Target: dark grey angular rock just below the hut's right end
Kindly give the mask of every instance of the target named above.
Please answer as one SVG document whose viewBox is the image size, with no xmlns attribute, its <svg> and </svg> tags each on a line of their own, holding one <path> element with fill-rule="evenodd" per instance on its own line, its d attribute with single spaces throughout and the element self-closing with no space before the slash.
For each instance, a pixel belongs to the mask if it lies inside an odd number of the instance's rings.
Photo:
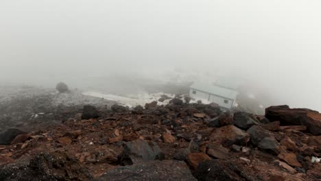
<svg viewBox="0 0 321 181">
<path fill-rule="evenodd" d="M 234 125 L 242 130 L 248 130 L 252 125 L 258 125 L 259 123 L 254 120 L 253 114 L 248 112 L 235 112 L 234 114 Z"/>
</svg>

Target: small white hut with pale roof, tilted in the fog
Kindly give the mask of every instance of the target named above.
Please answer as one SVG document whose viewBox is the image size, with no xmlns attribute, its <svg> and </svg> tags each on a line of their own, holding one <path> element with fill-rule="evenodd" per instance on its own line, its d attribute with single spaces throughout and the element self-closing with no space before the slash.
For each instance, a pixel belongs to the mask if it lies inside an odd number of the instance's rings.
<svg viewBox="0 0 321 181">
<path fill-rule="evenodd" d="M 194 83 L 189 90 L 189 96 L 195 100 L 214 102 L 222 108 L 232 109 L 237 98 L 237 91 L 216 84 Z"/>
</svg>

